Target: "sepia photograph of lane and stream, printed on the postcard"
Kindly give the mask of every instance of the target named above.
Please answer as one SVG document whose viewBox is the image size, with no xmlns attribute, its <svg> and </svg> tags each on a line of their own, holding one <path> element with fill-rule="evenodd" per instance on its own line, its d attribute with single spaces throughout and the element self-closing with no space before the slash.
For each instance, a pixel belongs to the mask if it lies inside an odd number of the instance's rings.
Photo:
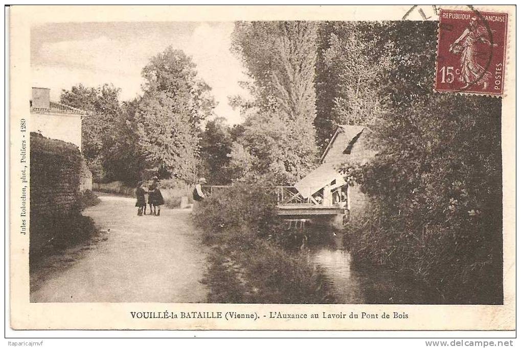
<svg viewBox="0 0 521 348">
<path fill-rule="evenodd" d="M 432 91 L 437 27 L 31 28 L 31 301 L 502 303 L 501 101 Z"/>
</svg>

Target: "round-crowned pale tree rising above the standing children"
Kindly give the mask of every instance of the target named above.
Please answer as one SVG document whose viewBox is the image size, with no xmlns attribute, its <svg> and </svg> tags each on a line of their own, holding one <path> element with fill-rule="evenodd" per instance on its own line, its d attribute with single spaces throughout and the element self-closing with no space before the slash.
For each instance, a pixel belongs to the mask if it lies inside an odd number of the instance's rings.
<svg viewBox="0 0 521 348">
<path fill-rule="evenodd" d="M 136 113 L 138 144 L 146 167 L 192 182 L 199 157 L 201 122 L 212 114 L 210 87 L 195 64 L 168 47 L 143 68 L 144 95 Z"/>
</svg>

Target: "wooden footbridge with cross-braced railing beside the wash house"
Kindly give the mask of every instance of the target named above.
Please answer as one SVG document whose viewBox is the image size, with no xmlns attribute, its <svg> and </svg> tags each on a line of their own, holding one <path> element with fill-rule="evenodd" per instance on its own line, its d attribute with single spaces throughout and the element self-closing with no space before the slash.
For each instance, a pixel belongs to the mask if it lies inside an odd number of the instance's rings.
<svg viewBox="0 0 521 348">
<path fill-rule="evenodd" d="M 220 190 L 230 186 L 203 186 L 203 191 L 212 196 Z M 275 186 L 274 198 L 277 198 L 278 215 L 284 217 L 312 217 L 315 215 L 341 215 L 346 214 L 348 208 L 348 195 L 343 194 L 342 188 L 338 187 L 331 191 L 330 199 L 321 196 L 304 198 L 294 186 Z"/>
</svg>

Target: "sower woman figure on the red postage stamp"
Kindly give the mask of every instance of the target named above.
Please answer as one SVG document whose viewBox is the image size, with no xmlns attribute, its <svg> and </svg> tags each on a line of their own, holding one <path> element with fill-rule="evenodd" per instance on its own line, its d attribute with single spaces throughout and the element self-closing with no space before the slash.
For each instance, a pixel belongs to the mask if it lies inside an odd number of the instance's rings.
<svg viewBox="0 0 521 348">
<path fill-rule="evenodd" d="M 491 30 L 490 32 L 493 32 Z M 483 85 L 486 89 L 492 73 L 487 71 L 477 62 L 478 42 L 486 43 L 492 47 L 497 46 L 488 40 L 485 35 L 488 33 L 483 25 L 478 25 L 477 18 L 472 17 L 463 33 L 449 47 L 449 51 L 461 55 L 461 81 L 465 83 L 463 88 L 471 84 Z"/>
</svg>

